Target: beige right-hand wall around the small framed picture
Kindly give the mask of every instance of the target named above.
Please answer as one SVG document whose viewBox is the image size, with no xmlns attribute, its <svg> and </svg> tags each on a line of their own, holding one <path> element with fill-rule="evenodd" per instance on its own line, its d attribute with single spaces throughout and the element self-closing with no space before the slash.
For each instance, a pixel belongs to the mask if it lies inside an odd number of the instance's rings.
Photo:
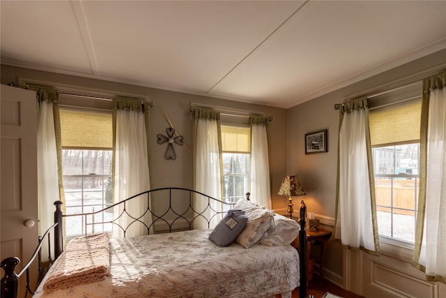
<svg viewBox="0 0 446 298">
<path fill-rule="evenodd" d="M 379 89 L 413 82 L 429 75 L 429 71 L 436 71 L 442 67 L 446 68 L 446 50 L 380 73 L 288 110 L 287 172 L 299 176 L 302 187 L 307 192 L 307 195 L 299 198 L 305 200 L 308 212 L 331 219 L 335 216 L 339 112 L 334 110 L 334 104 L 342 103 L 344 98 L 351 96 L 374 94 Z M 305 155 L 305 133 L 322 129 L 328 130 L 328 152 Z M 332 227 L 325 228 L 332 229 Z M 339 244 L 329 244 L 327 257 L 326 268 L 341 276 L 342 250 Z"/>
</svg>

